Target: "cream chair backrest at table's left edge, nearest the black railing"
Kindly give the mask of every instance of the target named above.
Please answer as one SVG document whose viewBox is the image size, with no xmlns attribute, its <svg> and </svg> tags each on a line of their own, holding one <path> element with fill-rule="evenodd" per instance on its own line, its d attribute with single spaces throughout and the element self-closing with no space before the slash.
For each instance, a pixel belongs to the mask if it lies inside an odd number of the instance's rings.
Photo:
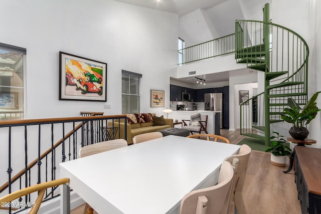
<svg viewBox="0 0 321 214">
<path fill-rule="evenodd" d="M 108 140 L 99 143 L 90 144 L 79 149 L 79 156 L 86 157 L 92 154 L 97 154 L 104 151 L 127 146 L 127 141 L 124 139 Z"/>
</svg>

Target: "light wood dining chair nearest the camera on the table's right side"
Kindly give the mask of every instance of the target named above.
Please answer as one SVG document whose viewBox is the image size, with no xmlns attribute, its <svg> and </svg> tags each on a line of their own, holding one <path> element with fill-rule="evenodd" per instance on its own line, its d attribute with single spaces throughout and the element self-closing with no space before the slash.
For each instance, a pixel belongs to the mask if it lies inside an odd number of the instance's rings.
<svg viewBox="0 0 321 214">
<path fill-rule="evenodd" d="M 225 198 L 229 193 L 234 171 L 230 162 L 222 163 L 218 184 L 193 190 L 181 201 L 181 214 L 218 214 L 225 209 Z M 227 204 L 228 205 L 228 204 Z"/>
</svg>

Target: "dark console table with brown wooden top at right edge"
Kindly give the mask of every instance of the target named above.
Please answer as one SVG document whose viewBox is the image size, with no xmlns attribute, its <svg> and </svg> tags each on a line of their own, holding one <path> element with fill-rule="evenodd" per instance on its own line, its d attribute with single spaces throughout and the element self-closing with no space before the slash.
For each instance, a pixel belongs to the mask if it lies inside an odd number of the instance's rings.
<svg viewBox="0 0 321 214">
<path fill-rule="evenodd" d="M 321 213 L 321 149 L 295 146 L 295 182 L 302 213 Z"/>
</svg>

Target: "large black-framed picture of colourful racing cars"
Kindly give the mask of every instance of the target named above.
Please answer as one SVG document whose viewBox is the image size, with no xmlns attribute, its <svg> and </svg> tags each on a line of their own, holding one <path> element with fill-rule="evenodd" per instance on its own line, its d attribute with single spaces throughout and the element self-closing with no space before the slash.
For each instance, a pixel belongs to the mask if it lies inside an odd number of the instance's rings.
<svg viewBox="0 0 321 214">
<path fill-rule="evenodd" d="M 107 63 L 59 52 L 59 100 L 107 100 Z"/>
</svg>

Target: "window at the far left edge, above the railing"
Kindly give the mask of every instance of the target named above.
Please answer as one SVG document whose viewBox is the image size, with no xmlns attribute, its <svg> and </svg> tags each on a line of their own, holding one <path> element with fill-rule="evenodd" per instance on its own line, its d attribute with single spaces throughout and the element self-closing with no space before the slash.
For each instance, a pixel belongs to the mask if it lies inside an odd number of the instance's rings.
<svg viewBox="0 0 321 214">
<path fill-rule="evenodd" d="M 0 43 L 0 120 L 24 117 L 26 49 Z"/>
</svg>

